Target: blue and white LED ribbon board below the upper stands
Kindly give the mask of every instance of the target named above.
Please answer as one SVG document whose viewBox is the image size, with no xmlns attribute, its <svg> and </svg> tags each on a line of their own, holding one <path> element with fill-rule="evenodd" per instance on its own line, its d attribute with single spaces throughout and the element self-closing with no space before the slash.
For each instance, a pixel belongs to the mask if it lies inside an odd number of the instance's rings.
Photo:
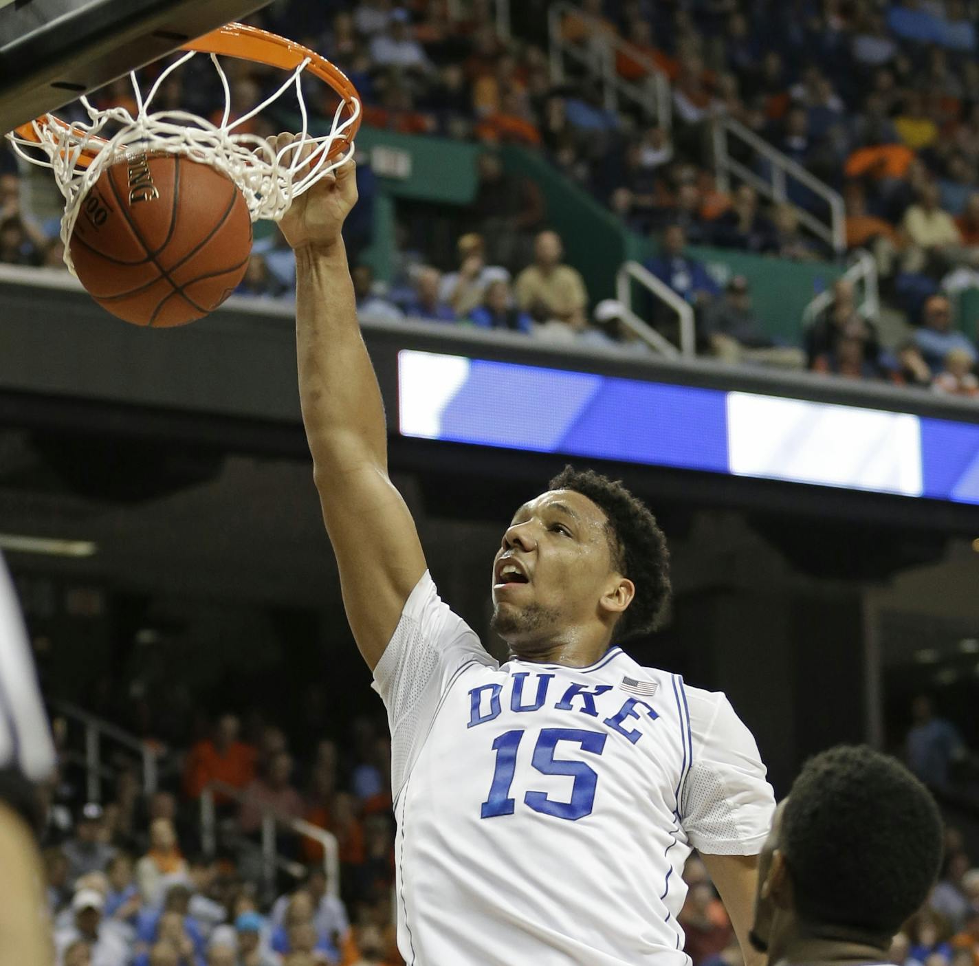
<svg viewBox="0 0 979 966">
<path fill-rule="evenodd" d="M 979 424 L 398 352 L 402 436 L 979 503 Z"/>
</svg>

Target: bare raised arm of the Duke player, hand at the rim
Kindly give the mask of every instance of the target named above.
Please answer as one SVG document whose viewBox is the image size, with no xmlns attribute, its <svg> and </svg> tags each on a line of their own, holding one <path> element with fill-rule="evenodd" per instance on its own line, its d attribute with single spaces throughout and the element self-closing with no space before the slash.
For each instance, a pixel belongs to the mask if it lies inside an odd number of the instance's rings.
<svg viewBox="0 0 979 966">
<path fill-rule="evenodd" d="M 291 135 L 280 135 L 282 147 Z M 425 573 L 414 521 L 388 479 L 377 377 L 357 323 L 340 232 L 357 199 L 353 162 L 293 202 L 280 223 L 296 252 L 303 424 L 350 629 L 373 669 Z"/>
</svg>

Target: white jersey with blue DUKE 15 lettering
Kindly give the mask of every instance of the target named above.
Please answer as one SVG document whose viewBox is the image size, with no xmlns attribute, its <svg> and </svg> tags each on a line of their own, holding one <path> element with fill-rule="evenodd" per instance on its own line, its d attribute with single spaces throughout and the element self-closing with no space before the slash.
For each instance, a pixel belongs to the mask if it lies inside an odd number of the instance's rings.
<svg viewBox="0 0 979 966">
<path fill-rule="evenodd" d="M 409 966 L 685 966 L 692 848 L 756 854 L 774 800 L 723 694 L 640 667 L 498 665 L 426 573 L 375 669 Z"/>
</svg>

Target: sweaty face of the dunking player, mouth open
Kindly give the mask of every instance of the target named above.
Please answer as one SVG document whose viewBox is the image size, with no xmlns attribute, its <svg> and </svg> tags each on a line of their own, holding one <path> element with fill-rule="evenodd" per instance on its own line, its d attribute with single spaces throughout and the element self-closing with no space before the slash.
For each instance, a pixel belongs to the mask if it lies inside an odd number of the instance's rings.
<svg viewBox="0 0 979 966">
<path fill-rule="evenodd" d="M 493 559 L 493 629 L 515 653 L 543 650 L 599 620 L 612 570 L 605 514 L 581 493 L 558 489 L 525 503 Z"/>
</svg>

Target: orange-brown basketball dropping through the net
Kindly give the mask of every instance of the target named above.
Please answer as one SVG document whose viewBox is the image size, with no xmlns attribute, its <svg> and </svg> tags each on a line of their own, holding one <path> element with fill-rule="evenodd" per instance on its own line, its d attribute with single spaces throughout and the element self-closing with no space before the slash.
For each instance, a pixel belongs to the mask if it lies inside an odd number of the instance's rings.
<svg viewBox="0 0 979 966">
<path fill-rule="evenodd" d="M 81 203 L 70 254 L 78 280 L 133 325 L 203 318 L 248 267 L 252 219 L 232 181 L 176 154 L 129 155 Z"/>
</svg>

